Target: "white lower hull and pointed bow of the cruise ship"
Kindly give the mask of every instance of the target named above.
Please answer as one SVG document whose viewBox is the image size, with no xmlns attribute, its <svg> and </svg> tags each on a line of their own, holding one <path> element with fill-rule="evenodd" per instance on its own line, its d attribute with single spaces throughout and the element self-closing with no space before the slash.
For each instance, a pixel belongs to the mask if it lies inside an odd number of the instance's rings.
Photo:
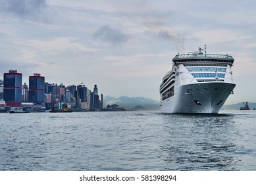
<svg viewBox="0 0 256 184">
<path fill-rule="evenodd" d="M 234 83 L 226 82 L 181 85 L 174 96 L 161 101 L 161 112 L 218 113 L 235 86 Z"/>
</svg>

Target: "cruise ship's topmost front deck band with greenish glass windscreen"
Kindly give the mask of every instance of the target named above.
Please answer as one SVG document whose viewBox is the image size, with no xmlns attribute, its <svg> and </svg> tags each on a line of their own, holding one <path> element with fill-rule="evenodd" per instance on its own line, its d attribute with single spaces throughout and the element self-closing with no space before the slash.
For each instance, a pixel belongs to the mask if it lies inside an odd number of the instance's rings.
<svg viewBox="0 0 256 184">
<path fill-rule="evenodd" d="M 188 53 L 187 55 L 176 55 L 172 61 L 174 64 L 184 62 L 222 62 L 233 64 L 234 58 L 230 55 L 203 54 L 203 53 Z"/>
</svg>

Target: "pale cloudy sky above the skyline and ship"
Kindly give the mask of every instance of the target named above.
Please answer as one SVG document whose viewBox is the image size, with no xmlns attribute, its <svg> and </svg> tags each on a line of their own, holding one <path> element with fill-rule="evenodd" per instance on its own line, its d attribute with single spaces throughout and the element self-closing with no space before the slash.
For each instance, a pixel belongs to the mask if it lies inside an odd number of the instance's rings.
<svg viewBox="0 0 256 184">
<path fill-rule="evenodd" d="M 226 104 L 255 102 L 255 9 L 253 0 L 1 0 L 0 79 L 16 69 L 27 83 L 40 73 L 49 83 L 159 101 L 172 58 L 206 44 L 207 53 L 235 58 Z"/>
</svg>

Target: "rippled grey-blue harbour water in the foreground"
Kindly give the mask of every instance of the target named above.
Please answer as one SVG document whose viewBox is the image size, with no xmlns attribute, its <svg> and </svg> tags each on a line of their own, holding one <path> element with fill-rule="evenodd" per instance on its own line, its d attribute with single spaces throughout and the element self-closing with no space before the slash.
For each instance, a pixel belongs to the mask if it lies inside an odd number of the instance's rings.
<svg viewBox="0 0 256 184">
<path fill-rule="evenodd" d="M 0 170 L 256 170 L 256 110 L 2 113 Z"/>
</svg>

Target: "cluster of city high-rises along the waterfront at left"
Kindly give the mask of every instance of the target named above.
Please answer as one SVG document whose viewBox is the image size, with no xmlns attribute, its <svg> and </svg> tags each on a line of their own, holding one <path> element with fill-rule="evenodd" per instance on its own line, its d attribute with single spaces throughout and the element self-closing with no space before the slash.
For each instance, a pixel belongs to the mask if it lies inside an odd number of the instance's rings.
<svg viewBox="0 0 256 184">
<path fill-rule="evenodd" d="M 66 106 L 78 111 L 103 109 L 103 95 L 99 97 L 97 85 L 91 92 L 84 83 L 66 87 L 45 82 L 45 77 L 37 73 L 29 77 L 29 85 L 22 85 L 22 74 L 17 70 L 10 70 L 0 80 L 0 101 L 3 106 L 23 106 L 37 112 Z"/>
</svg>

